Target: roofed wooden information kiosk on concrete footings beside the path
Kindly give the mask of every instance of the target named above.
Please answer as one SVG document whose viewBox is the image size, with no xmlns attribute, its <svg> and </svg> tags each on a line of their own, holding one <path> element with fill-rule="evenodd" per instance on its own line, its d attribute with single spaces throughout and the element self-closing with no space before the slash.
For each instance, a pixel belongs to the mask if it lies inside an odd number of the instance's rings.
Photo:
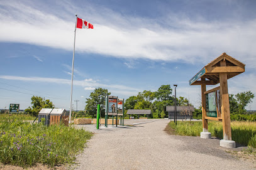
<svg viewBox="0 0 256 170">
<path fill-rule="evenodd" d="M 211 133 L 208 132 L 208 120 L 222 121 L 223 140 L 220 141 L 220 146 L 235 147 L 235 141 L 231 139 L 227 80 L 243 72 L 245 72 L 243 63 L 226 53 L 222 53 L 189 80 L 189 85 L 201 85 L 203 119 L 201 138 L 211 138 Z M 218 83 L 220 83 L 219 87 L 206 91 L 206 85 L 216 85 Z"/>
</svg>

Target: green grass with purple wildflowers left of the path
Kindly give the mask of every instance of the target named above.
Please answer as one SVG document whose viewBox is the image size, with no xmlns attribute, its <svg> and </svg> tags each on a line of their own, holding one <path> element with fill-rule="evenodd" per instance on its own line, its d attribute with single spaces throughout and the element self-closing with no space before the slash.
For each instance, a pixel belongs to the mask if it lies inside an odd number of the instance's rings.
<svg viewBox="0 0 256 170">
<path fill-rule="evenodd" d="M 91 136 L 91 132 L 62 124 L 31 125 L 20 117 L 6 117 L 0 124 L 0 161 L 22 167 L 70 164 Z"/>
</svg>

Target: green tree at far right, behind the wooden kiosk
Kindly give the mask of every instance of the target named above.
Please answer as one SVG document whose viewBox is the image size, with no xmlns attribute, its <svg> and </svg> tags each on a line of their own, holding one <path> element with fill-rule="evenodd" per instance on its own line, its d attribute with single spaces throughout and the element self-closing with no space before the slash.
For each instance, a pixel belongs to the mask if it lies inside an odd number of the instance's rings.
<svg viewBox="0 0 256 170">
<path fill-rule="evenodd" d="M 245 114 L 248 104 L 252 103 L 254 94 L 249 90 L 247 92 L 237 93 L 236 95 L 230 94 L 230 112 L 232 114 Z"/>
</svg>

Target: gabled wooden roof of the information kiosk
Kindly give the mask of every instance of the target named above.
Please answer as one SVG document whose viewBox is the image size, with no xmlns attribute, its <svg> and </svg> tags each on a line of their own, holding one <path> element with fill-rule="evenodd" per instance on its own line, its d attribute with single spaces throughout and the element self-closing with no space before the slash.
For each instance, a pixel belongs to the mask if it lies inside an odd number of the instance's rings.
<svg viewBox="0 0 256 170">
<path fill-rule="evenodd" d="M 216 85 L 220 83 L 220 73 L 227 73 L 228 78 L 231 78 L 243 72 L 245 72 L 245 64 L 222 53 L 191 78 L 189 85 Z M 198 81 L 199 78 L 201 81 Z"/>
</svg>

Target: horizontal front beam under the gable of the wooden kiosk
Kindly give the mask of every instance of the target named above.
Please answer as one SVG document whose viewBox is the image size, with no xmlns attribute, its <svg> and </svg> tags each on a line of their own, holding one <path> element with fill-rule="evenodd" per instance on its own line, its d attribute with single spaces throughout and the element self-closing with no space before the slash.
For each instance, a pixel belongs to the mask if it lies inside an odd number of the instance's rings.
<svg viewBox="0 0 256 170">
<path fill-rule="evenodd" d="M 240 66 L 213 66 L 207 68 L 207 73 L 243 73 L 245 68 Z"/>
</svg>

